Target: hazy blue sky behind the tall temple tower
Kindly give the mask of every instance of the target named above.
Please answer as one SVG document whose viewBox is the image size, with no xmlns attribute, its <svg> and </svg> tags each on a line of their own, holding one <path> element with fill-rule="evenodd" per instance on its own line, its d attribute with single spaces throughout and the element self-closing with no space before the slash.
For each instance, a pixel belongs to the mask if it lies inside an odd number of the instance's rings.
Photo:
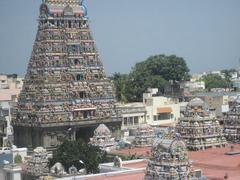
<svg viewBox="0 0 240 180">
<path fill-rule="evenodd" d="M 27 70 L 41 0 L 0 0 L 0 73 Z M 86 0 L 107 75 L 151 55 L 183 57 L 191 73 L 240 66 L 240 0 Z"/>
</svg>

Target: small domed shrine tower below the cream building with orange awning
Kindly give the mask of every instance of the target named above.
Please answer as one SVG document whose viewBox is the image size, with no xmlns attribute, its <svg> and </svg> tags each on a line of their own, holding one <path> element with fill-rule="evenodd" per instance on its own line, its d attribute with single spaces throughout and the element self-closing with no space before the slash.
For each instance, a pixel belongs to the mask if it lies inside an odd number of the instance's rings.
<svg viewBox="0 0 240 180">
<path fill-rule="evenodd" d="M 154 137 L 154 130 L 150 125 L 140 125 L 136 131 L 134 145 L 135 147 L 152 146 Z"/>
</svg>

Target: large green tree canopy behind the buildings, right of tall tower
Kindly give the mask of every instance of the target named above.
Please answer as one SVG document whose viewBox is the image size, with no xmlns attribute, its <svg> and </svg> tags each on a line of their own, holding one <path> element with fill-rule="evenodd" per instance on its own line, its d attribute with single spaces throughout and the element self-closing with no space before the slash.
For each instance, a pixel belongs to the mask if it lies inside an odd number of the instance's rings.
<svg viewBox="0 0 240 180">
<path fill-rule="evenodd" d="M 137 63 L 128 75 L 114 74 L 116 97 L 119 101 L 141 101 L 148 88 L 164 87 L 170 82 L 177 83 L 189 79 L 189 69 L 185 60 L 175 55 L 156 55 Z"/>
</svg>

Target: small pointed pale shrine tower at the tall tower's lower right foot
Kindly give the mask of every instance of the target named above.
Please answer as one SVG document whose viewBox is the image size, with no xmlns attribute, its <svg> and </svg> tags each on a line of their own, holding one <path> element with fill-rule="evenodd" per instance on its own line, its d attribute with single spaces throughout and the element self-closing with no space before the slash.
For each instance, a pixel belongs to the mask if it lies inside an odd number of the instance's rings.
<svg viewBox="0 0 240 180">
<path fill-rule="evenodd" d="M 90 144 L 99 146 L 103 151 L 111 151 L 116 149 L 117 143 L 112 137 L 112 132 L 105 124 L 100 124 L 94 131 L 94 135 L 90 138 Z"/>
</svg>

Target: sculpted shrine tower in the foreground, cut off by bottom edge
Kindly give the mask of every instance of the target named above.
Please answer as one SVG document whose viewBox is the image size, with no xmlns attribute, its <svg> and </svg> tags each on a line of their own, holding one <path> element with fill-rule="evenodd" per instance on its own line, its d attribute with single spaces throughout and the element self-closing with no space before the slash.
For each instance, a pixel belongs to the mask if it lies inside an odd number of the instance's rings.
<svg viewBox="0 0 240 180">
<path fill-rule="evenodd" d="M 145 180 L 195 178 L 188 159 L 187 147 L 179 135 L 171 139 L 155 140 L 151 152 L 152 157 L 145 172 Z"/>
</svg>

